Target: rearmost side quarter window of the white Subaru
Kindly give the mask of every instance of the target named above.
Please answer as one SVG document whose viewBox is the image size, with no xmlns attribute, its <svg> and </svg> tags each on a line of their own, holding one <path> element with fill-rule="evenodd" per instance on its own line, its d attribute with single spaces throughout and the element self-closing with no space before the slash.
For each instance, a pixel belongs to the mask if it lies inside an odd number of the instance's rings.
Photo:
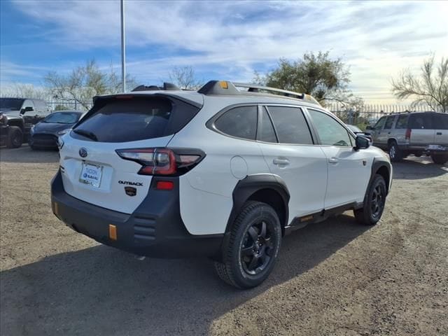
<svg viewBox="0 0 448 336">
<path fill-rule="evenodd" d="M 219 117 L 214 125 L 217 130 L 232 137 L 255 140 L 257 114 L 257 106 L 235 107 Z"/>
</svg>

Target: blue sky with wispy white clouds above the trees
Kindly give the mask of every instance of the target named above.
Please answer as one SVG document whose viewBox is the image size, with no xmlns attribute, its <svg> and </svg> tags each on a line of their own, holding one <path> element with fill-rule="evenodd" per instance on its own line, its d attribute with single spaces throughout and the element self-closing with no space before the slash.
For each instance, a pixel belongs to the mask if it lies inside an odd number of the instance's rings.
<svg viewBox="0 0 448 336">
<path fill-rule="evenodd" d="M 448 1 L 447 1 L 448 2 Z M 43 85 L 87 59 L 120 72 L 119 1 L 0 1 L 0 85 Z M 367 102 L 395 102 L 390 80 L 448 57 L 443 1 L 125 1 L 127 71 L 161 83 L 174 66 L 202 80 L 248 81 L 279 57 L 330 50 Z M 1 88 L 0 87 L 0 88 Z"/>
</svg>

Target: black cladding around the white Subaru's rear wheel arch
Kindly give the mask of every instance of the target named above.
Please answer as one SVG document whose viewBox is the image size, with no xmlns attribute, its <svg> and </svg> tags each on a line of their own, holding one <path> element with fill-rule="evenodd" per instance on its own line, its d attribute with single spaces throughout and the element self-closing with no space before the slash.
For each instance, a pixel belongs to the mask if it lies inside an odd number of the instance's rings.
<svg viewBox="0 0 448 336">
<path fill-rule="evenodd" d="M 225 232 L 230 232 L 232 224 L 241 212 L 244 203 L 247 201 L 258 201 L 269 204 L 279 216 L 282 234 L 288 225 L 288 203 L 289 191 L 286 183 L 271 174 L 256 174 L 246 176 L 238 181 L 232 193 L 233 207 Z"/>
</svg>

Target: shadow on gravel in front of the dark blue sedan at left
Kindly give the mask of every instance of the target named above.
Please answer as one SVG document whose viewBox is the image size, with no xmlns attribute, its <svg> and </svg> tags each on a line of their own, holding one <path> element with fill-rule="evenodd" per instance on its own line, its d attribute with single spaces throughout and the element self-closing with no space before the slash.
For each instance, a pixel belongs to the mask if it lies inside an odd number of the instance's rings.
<svg viewBox="0 0 448 336">
<path fill-rule="evenodd" d="M 32 150 L 28 144 L 22 144 L 19 148 L 0 148 L 0 162 L 52 163 L 59 162 L 59 154 L 57 148 Z"/>
</svg>

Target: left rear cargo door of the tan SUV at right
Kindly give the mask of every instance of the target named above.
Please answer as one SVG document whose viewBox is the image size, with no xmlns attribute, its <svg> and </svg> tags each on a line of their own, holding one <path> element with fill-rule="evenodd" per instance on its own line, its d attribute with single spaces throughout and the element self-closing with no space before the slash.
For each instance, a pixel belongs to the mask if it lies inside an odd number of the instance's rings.
<svg viewBox="0 0 448 336">
<path fill-rule="evenodd" d="M 412 113 L 409 116 L 409 126 L 411 129 L 411 146 L 426 147 L 435 141 L 435 131 L 433 127 L 433 113 Z"/>
</svg>

